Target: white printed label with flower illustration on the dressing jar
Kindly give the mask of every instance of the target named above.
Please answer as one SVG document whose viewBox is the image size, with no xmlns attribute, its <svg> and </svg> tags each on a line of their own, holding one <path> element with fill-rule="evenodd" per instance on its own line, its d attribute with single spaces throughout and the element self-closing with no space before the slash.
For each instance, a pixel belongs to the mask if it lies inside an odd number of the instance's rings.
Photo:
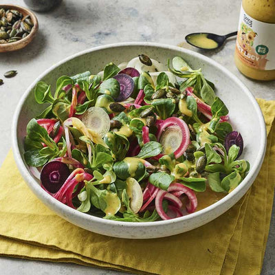
<svg viewBox="0 0 275 275">
<path fill-rule="evenodd" d="M 236 53 L 254 69 L 275 69 L 275 24 L 253 19 L 241 6 Z"/>
</svg>

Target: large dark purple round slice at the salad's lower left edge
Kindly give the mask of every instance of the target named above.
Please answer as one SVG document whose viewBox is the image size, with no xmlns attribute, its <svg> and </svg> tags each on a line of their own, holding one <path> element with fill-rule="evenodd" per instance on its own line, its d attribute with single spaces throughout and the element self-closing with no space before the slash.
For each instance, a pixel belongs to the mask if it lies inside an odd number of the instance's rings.
<svg viewBox="0 0 275 275">
<path fill-rule="evenodd" d="M 69 174 L 67 164 L 56 160 L 48 162 L 41 170 L 41 184 L 47 191 L 56 193 L 63 186 Z"/>
</svg>

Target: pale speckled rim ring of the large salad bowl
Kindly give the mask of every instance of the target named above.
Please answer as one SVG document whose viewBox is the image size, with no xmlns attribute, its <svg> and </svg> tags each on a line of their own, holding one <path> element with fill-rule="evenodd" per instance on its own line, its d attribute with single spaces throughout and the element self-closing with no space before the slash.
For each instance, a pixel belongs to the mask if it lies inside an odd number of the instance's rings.
<svg viewBox="0 0 275 275">
<path fill-rule="evenodd" d="M 18 140 L 17 140 L 17 122 L 18 122 L 18 119 L 19 119 L 19 114 L 20 114 L 21 108 L 23 107 L 23 104 L 24 104 L 26 98 L 28 97 L 28 94 L 34 88 L 36 83 L 39 80 L 41 80 L 45 75 L 47 75 L 49 72 L 51 72 L 52 69 L 55 69 L 56 67 L 62 65 L 63 63 L 65 63 L 65 62 L 67 62 L 67 61 L 69 61 L 73 58 L 76 58 L 76 57 L 81 56 L 83 54 L 88 54 L 89 52 L 96 52 L 98 50 L 108 49 L 110 47 L 126 47 L 126 46 L 159 47 L 159 48 L 163 48 L 165 50 L 175 50 L 175 51 L 182 52 L 183 54 L 187 53 L 187 54 L 190 54 L 190 56 L 195 56 L 195 58 L 199 58 L 202 61 L 206 61 L 206 62 L 210 63 L 214 67 L 219 68 L 221 71 L 223 71 L 225 74 L 227 74 L 230 78 L 233 78 L 234 81 L 241 87 L 242 92 L 245 93 L 246 96 L 248 96 L 248 98 L 250 98 L 251 102 L 253 102 L 254 108 L 256 109 L 256 113 L 259 116 L 259 120 L 260 120 L 260 125 L 259 126 L 260 126 L 260 129 L 261 129 L 261 132 L 259 133 L 259 143 L 261 145 L 260 145 L 260 150 L 259 150 L 258 154 L 256 155 L 255 163 L 252 166 L 252 168 L 251 168 L 250 172 L 248 173 L 248 175 L 245 177 L 245 179 L 241 182 L 241 184 L 239 184 L 239 186 L 237 186 L 228 195 L 223 197 L 223 199 L 220 199 L 216 203 L 213 203 L 211 206 L 203 208 L 203 209 L 201 209 L 197 212 L 194 212 L 192 214 L 188 214 L 184 217 L 178 217 L 178 218 L 169 219 L 169 220 L 166 220 L 166 221 L 151 221 L 151 222 L 135 223 L 135 222 L 112 221 L 112 220 L 108 220 L 108 219 L 102 219 L 102 218 L 99 218 L 99 217 L 91 216 L 89 214 L 85 214 L 83 212 L 79 212 L 77 210 L 74 210 L 73 208 L 70 208 L 69 206 L 66 206 L 65 204 L 61 203 L 60 201 L 54 199 L 54 197 L 52 197 L 47 192 L 45 192 L 41 188 L 41 186 L 39 186 L 39 184 L 37 184 L 37 181 L 34 180 L 32 175 L 29 173 L 28 169 L 25 167 L 25 164 L 24 164 L 23 159 L 21 157 L 21 154 L 19 152 L 19 146 L 18 146 Z M 32 85 L 30 85 L 30 87 L 25 91 L 25 93 L 23 94 L 19 104 L 17 105 L 17 109 L 14 113 L 14 117 L 13 117 L 13 121 L 12 121 L 12 150 L 13 150 L 13 153 L 14 153 L 15 162 L 17 163 L 17 166 L 19 168 L 19 171 L 21 172 L 21 175 L 23 176 L 25 181 L 27 181 L 28 185 L 32 189 L 32 192 L 34 192 L 34 194 L 36 194 L 37 197 L 39 197 L 39 199 L 41 199 L 42 201 L 47 200 L 47 203 L 53 203 L 54 206 L 56 208 L 58 208 L 59 211 L 62 210 L 63 212 L 65 212 L 67 217 L 69 217 L 70 215 L 76 215 L 81 219 L 87 219 L 87 220 L 95 221 L 96 223 L 102 223 L 104 225 L 117 225 L 117 226 L 124 227 L 124 228 L 128 228 L 128 227 L 129 228 L 133 228 L 133 227 L 135 227 L 135 228 L 148 228 L 148 227 L 155 226 L 155 225 L 162 226 L 162 225 L 167 225 L 167 224 L 171 224 L 171 223 L 178 223 L 178 222 L 182 222 L 182 221 L 190 221 L 190 220 L 194 219 L 195 217 L 203 217 L 204 214 L 206 214 L 208 212 L 211 212 L 215 208 L 219 208 L 219 206 L 221 206 L 223 203 L 225 203 L 225 201 L 228 201 L 228 200 L 232 199 L 232 197 L 234 197 L 243 188 L 245 190 L 248 190 L 248 188 L 252 185 L 254 179 L 256 178 L 256 175 L 258 175 L 258 173 L 259 173 L 259 170 L 261 168 L 261 164 L 263 163 L 263 158 L 264 158 L 264 155 L 265 155 L 265 148 L 266 148 L 266 129 L 265 129 L 265 120 L 263 118 L 263 113 L 262 113 L 262 111 L 259 107 L 259 104 L 256 102 L 256 99 L 254 98 L 252 93 L 248 90 L 248 88 L 241 82 L 241 80 L 239 80 L 239 78 L 237 78 L 234 74 L 229 72 L 228 69 L 225 69 L 225 67 L 223 67 L 222 65 L 220 65 L 216 61 L 213 61 L 212 59 L 210 59 L 206 56 L 203 56 L 202 54 L 198 54 L 197 52 L 192 52 L 190 50 L 186 50 L 186 49 L 181 48 L 181 47 L 177 47 L 177 46 L 173 46 L 173 45 L 166 45 L 166 44 L 161 44 L 161 43 L 150 43 L 150 42 L 114 43 L 114 44 L 103 45 L 103 46 L 99 46 L 99 47 L 92 47 L 89 50 L 79 52 L 77 54 L 69 56 L 68 58 L 63 59 L 63 61 L 60 61 L 60 62 L 56 63 L 55 65 L 50 67 L 50 69 L 47 69 L 43 74 L 41 74 L 38 78 L 36 78 L 36 80 L 34 80 L 34 83 L 32 83 Z M 240 199 L 241 199 L 241 197 L 240 197 Z M 230 206 L 230 207 L 232 207 L 232 206 Z M 226 210 L 228 210 L 228 209 L 229 208 L 227 208 Z M 223 211 L 223 212 L 225 212 L 225 211 Z M 223 212 L 221 214 L 223 214 Z M 219 214 L 219 215 L 221 215 L 221 214 Z M 219 217 L 219 215 L 217 217 Z M 216 219 L 217 217 L 213 217 L 208 222 L 212 221 L 213 219 Z M 170 235 L 173 235 L 173 232 L 171 232 Z"/>
</svg>

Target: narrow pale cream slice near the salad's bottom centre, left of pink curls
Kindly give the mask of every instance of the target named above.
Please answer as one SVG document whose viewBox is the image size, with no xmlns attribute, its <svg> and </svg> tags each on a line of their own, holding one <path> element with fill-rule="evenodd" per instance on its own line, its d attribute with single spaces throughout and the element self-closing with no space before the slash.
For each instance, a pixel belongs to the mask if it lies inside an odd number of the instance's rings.
<svg viewBox="0 0 275 275">
<path fill-rule="evenodd" d="M 130 198 L 130 208 L 134 213 L 137 213 L 142 207 L 143 203 L 142 188 L 133 177 L 128 177 L 126 179 L 126 184 L 126 193 Z"/>
</svg>

